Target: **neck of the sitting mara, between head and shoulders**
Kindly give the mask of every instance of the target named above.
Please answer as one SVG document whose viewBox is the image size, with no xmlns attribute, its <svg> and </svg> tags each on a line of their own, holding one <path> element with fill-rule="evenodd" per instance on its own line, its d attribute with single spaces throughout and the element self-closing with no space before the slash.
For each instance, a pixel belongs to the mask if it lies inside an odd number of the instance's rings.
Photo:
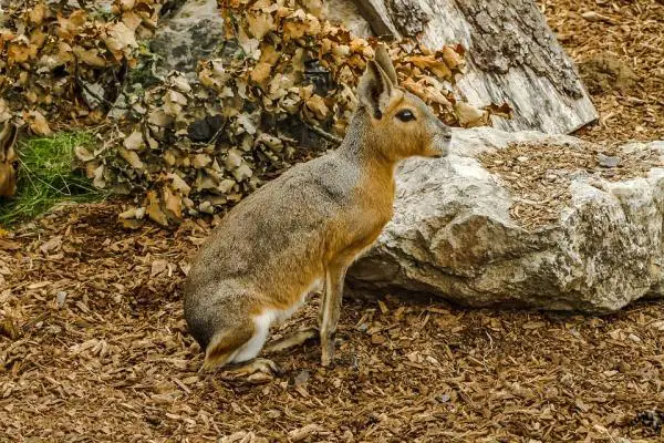
<svg viewBox="0 0 664 443">
<path fill-rule="evenodd" d="M 359 163 L 360 167 L 375 179 L 393 183 L 398 161 L 390 158 L 380 146 L 376 146 L 378 140 L 372 137 L 369 114 L 364 110 L 357 109 L 351 119 L 339 152 L 349 161 Z"/>
</svg>

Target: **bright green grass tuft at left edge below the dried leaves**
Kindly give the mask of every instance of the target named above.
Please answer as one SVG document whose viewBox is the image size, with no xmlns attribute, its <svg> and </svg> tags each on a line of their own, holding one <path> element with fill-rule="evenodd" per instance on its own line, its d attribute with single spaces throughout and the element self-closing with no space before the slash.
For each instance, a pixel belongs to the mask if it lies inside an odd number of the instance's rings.
<svg viewBox="0 0 664 443">
<path fill-rule="evenodd" d="M 85 132 L 59 133 L 48 138 L 18 143 L 19 183 L 17 195 L 0 197 L 0 226 L 10 227 L 34 218 L 60 202 L 92 202 L 104 194 L 80 171 L 74 171 L 74 147 L 90 147 L 94 137 Z"/>
</svg>

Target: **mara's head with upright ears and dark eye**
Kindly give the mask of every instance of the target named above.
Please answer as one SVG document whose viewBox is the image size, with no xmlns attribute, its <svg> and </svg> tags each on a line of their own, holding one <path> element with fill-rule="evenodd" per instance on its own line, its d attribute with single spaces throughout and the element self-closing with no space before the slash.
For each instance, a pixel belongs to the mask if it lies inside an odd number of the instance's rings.
<svg viewBox="0 0 664 443">
<path fill-rule="evenodd" d="M 398 161 L 418 155 L 447 155 L 452 130 L 419 97 L 398 87 L 396 71 L 384 47 L 376 49 L 357 85 L 357 112 L 366 113 L 372 147 Z"/>
</svg>

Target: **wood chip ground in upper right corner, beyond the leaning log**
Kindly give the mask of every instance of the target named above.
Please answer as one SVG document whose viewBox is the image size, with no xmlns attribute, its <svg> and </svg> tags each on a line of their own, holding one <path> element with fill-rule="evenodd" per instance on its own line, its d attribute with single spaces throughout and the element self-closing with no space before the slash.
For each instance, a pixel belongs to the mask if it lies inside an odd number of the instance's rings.
<svg viewBox="0 0 664 443">
<path fill-rule="evenodd" d="M 590 141 L 664 140 L 664 2 L 544 0 L 600 113 Z"/>
</svg>

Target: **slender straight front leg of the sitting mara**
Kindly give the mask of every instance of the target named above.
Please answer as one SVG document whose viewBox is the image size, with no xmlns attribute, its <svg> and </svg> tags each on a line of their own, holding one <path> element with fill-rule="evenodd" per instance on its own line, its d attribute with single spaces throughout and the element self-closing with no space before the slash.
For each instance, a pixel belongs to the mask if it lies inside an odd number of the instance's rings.
<svg viewBox="0 0 664 443">
<path fill-rule="evenodd" d="M 343 297 L 343 281 L 349 265 L 345 262 L 332 262 L 325 270 L 325 289 L 319 315 L 321 337 L 321 363 L 330 365 L 334 359 L 334 332 L 341 312 L 341 299 Z"/>
</svg>

